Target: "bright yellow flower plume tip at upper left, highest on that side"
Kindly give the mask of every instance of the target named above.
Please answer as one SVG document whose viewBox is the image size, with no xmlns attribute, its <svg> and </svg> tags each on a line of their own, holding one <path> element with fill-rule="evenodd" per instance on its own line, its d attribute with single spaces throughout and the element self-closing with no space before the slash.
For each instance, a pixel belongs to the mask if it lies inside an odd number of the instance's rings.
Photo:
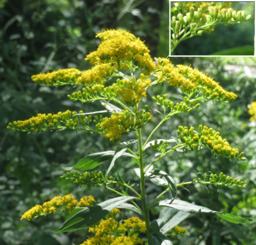
<svg viewBox="0 0 256 245">
<path fill-rule="evenodd" d="M 60 69 L 57 72 L 33 75 L 31 79 L 41 86 L 75 85 L 80 74 L 81 72 L 76 68 Z"/>
</svg>

